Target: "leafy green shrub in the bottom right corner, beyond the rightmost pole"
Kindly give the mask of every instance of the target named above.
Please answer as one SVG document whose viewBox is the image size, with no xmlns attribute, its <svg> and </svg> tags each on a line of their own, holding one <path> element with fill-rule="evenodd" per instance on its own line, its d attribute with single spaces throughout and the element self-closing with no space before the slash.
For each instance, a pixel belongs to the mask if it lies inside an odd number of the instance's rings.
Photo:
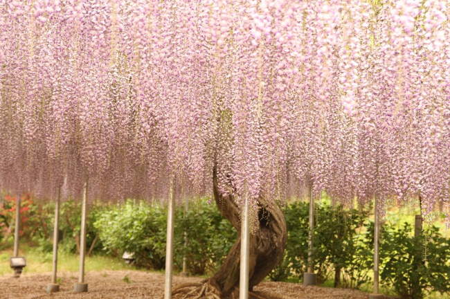
<svg viewBox="0 0 450 299">
<path fill-rule="evenodd" d="M 450 240 L 432 226 L 413 237 L 407 223 L 384 226 L 381 233 L 381 280 L 405 299 L 450 291 Z"/>
</svg>

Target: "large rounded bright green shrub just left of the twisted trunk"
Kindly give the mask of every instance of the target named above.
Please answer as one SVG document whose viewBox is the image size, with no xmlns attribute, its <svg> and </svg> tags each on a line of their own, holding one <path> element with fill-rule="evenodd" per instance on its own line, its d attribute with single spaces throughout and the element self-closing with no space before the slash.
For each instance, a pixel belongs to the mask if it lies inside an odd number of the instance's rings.
<svg viewBox="0 0 450 299">
<path fill-rule="evenodd" d="M 190 203 L 186 214 L 177 207 L 175 215 L 174 265 L 181 269 L 186 257 L 188 273 L 203 275 L 217 269 L 237 235 L 231 224 L 205 200 Z M 163 269 L 166 221 L 167 210 L 162 206 L 127 201 L 105 210 L 94 226 L 108 253 L 134 253 L 137 266 Z"/>
</svg>

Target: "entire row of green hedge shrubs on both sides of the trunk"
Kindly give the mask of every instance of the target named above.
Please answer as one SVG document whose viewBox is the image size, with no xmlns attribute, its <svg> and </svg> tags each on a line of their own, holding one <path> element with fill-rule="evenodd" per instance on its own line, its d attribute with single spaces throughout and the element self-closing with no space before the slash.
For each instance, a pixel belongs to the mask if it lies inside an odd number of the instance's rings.
<svg viewBox="0 0 450 299">
<path fill-rule="evenodd" d="M 174 266 L 181 271 L 186 257 L 188 273 L 210 274 L 224 261 L 237 233 L 206 199 L 189 205 L 187 212 L 182 206 L 175 210 Z M 53 208 L 53 203 L 31 203 L 30 223 L 39 225 L 24 226 L 24 235 L 42 251 L 51 251 Z M 6 215 L 5 211 L 0 214 Z M 288 229 L 285 257 L 269 278 L 299 281 L 307 267 L 309 204 L 289 203 L 284 212 Z M 373 223 L 368 210 L 349 210 L 320 202 L 315 216 L 313 259 L 319 282 L 333 280 L 336 287 L 355 289 L 370 284 Z M 5 219 L 0 217 L 7 224 Z M 118 258 L 125 251 L 132 252 L 136 266 L 161 270 L 165 265 L 166 221 L 167 210 L 158 204 L 125 201 L 119 205 L 94 205 L 89 208 L 87 248 Z M 80 234 L 78 202 L 62 203 L 60 233 L 62 249 L 75 253 Z M 402 298 L 420 299 L 431 291 L 450 291 L 450 239 L 442 237 L 438 228 L 431 226 L 415 238 L 408 224 L 384 224 L 380 258 L 381 284 Z"/>
</svg>

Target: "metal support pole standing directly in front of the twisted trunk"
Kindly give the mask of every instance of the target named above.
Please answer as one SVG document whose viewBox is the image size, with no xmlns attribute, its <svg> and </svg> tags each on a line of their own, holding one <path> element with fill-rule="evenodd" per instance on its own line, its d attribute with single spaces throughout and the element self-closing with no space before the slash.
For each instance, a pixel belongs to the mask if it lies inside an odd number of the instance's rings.
<svg viewBox="0 0 450 299">
<path fill-rule="evenodd" d="M 250 219 L 249 198 L 246 196 L 241 220 L 241 263 L 239 299 L 249 299 L 249 259 L 250 259 Z"/>
</svg>

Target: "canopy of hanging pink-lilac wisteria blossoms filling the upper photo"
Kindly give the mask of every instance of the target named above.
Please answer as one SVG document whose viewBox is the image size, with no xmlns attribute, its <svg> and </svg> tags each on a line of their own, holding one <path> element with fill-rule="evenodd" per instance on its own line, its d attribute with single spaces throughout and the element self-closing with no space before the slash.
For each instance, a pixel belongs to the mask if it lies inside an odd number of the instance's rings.
<svg viewBox="0 0 450 299">
<path fill-rule="evenodd" d="M 450 4 L 0 0 L 0 186 L 450 212 Z"/>
</svg>

